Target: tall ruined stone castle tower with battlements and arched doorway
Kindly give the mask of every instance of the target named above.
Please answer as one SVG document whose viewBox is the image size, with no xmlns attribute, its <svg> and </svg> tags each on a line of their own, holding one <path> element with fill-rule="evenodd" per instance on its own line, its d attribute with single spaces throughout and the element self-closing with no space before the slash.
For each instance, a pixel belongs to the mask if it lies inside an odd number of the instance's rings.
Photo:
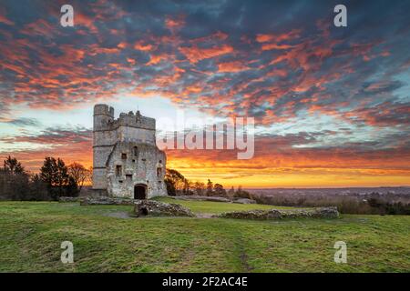
<svg viewBox="0 0 410 291">
<path fill-rule="evenodd" d="M 155 141 L 155 119 L 94 106 L 93 190 L 101 196 L 146 199 L 166 196 L 166 156 Z"/>
</svg>

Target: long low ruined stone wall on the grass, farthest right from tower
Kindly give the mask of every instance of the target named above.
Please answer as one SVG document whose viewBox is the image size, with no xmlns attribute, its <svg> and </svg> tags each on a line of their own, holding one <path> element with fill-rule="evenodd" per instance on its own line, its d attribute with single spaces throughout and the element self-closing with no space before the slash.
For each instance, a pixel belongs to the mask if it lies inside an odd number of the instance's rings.
<svg viewBox="0 0 410 291">
<path fill-rule="evenodd" d="M 312 209 L 270 209 L 249 210 L 222 213 L 214 217 L 237 219 L 283 219 L 283 218 L 337 218 L 339 212 L 336 207 L 320 207 Z"/>
</svg>

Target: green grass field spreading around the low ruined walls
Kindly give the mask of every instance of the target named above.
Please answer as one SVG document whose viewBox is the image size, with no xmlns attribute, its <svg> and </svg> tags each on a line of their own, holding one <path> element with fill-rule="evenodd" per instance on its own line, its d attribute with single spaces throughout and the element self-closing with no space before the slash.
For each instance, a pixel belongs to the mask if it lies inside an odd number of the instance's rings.
<svg viewBox="0 0 410 291">
<path fill-rule="evenodd" d="M 269 208 L 180 203 L 199 213 Z M 409 272 L 410 216 L 124 218 L 131 206 L 0 202 L 1 272 Z M 74 264 L 60 262 L 62 241 Z M 333 245 L 347 244 L 347 264 Z"/>
</svg>

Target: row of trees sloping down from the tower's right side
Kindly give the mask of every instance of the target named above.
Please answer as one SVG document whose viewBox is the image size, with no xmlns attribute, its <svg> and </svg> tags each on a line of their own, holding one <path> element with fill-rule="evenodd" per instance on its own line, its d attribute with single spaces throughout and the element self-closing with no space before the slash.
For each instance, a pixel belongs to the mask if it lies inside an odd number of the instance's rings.
<svg viewBox="0 0 410 291">
<path fill-rule="evenodd" d="M 165 184 L 169 196 L 220 196 L 227 198 L 251 198 L 251 194 L 241 186 L 235 190 L 232 186 L 228 191 L 219 183 L 193 182 L 174 169 L 167 169 Z"/>
</svg>

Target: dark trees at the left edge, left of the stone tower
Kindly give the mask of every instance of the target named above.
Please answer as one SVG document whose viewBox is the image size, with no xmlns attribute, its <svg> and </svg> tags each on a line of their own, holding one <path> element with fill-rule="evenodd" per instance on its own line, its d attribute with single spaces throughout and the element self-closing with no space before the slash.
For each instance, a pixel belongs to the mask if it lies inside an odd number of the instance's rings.
<svg viewBox="0 0 410 291">
<path fill-rule="evenodd" d="M 32 174 L 12 156 L 0 167 L 0 199 L 58 200 L 60 196 L 78 196 L 91 182 L 91 169 L 79 163 L 66 163 L 59 157 L 46 156 L 40 173 Z"/>
</svg>

